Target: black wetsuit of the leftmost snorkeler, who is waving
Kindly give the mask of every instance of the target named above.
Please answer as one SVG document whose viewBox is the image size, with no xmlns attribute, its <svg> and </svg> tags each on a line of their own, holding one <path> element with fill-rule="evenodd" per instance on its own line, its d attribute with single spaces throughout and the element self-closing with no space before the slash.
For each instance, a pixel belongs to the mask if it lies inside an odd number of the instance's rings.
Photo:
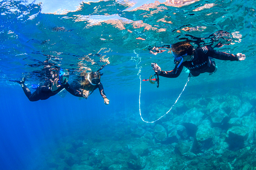
<svg viewBox="0 0 256 170">
<path fill-rule="evenodd" d="M 48 79 L 43 85 L 40 85 L 34 93 L 31 93 L 31 91 L 27 88 L 27 86 L 24 83 L 21 83 L 21 87 L 31 102 L 38 100 L 46 100 L 49 97 L 56 95 L 64 88 L 74 96 L 83 97 L 82 91 L 73 89 L 72 87 L 70 87 L 68 83 L 66 83 L 64 86 L 59 87 L 56 91 L 52 92 L 52 82 L 50 79 Z"/>
</svg>

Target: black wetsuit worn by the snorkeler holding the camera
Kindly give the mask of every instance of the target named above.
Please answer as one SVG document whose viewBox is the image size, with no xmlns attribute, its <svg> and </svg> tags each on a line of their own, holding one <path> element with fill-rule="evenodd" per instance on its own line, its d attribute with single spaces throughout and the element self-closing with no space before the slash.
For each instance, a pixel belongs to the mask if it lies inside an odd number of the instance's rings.
<svg viewBox="0 0 256 170">
<path fill-rule="evenodd" d="M 178 77 L 183 69 L 183 66 L 188 68 L 193 76 L 198 76 L 201 73 L 212 73 L 215 70 L 215 62 L 212 58 L 220 60 L 238 61 L 238 56 L 234 54 L 228 54 L 225 52 L 219 52 L 214 50 L 211 46 L 204 46 L 198 49 L 194 49 L 194 58 L 190 61 L 184 61 L 178 68 L 179 63 L 175 63 L 175 68 L 171 71 L 161 71 L 159 74 L 163 77 L 175 78 Z"/>
</svg>

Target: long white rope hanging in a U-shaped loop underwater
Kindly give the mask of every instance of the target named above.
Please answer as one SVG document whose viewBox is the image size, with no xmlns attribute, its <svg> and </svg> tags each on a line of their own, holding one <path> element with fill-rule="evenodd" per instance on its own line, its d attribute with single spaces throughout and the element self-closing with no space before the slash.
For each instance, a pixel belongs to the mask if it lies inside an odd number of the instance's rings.
<svg viewBox="0 0 256 170">
<path fill-rule="evenodd" d="M 138 65 L 138 64 L 140 63 L 140 61 L 141 61 L 141 58 L 139 57 L 139 54 L 137 54 L 137 53 L 135 52 L 135 50 L 133 50 L 133 52 L 137 55 L 137 58 L 139 59 L 139 61 L 137 61 L 137 64 L 136 64 L 136 68 L 137 68 L 137 65 Z M 132 59 L 135 60 L 133 57 L 132 57 Z M 136 61 L 136 60 L 135 60 L 135 61 Z M 141 72 L 141 68 L 142 68 L 142 67 L 139 67 L 139 72 L 138 72 L 138 74 L 137 74 L 138 76 L 140 76 L 140 95 L 141 95 L 141 75 L 139 75 L 139 73 Z M 183 93 L 183 91 L 185 90 L 185 88 L 186 88 L 186 86 L 187 86 L 187 84 L 188 84 L 188 82 L 189 82 L 189 79 L 190 79 L 190 77 L 188 77 L 187 82 L 186 82 L 186 84 L 185 84 L 185 86 L 184 86 L 182 92 L 180 93 L 180 95 L 179 95 L 179 97 L 177 98 L 177 100 L 175 101 L 175 103 L 172 105 L 171 109 L 170 109 L 168 112 L 166 112 L 163 116 L 161 116 L 160 118 L 158 118 L 157 120 L 155 120 L 155 121 L 153 121 L 153 122 L 148 122 L 148 121 L 144 121 L 144 120 L 143 120 L 143 118 L 142 118 L 142 116 L 141 116 L 140 95 L 139 95 L 139 111 L 140 111 L 140 118 L 142 119 L 142 121 L 143 121 L 143 122 L 146 122 L 146 123 L 154 123 L 154 122 L 160 120 L 160 119 L 161 119 L 162 117 L 164 117 L 165 115 L 167 115 L 167 114 L 172 110 L 173 106 L 177 103 L 177 101 L 179 100 L 181 94 Z"/>
</svg>

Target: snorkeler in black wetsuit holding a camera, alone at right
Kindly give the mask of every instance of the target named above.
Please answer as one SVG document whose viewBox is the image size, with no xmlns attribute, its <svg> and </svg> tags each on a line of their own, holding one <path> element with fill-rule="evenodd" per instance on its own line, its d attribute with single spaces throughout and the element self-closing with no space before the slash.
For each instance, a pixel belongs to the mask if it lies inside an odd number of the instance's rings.
<svg viewBox="0 0 256 170">
<path fill-rule="evenodd" d="M 201 73 L 215 73 L 217 68 L 215 62 L 211 58 L 230 61 L 245 60 L 245 55 L 242 53 L 228 54 L 214 50 L 211 46 L 204 46 L 198 49 L 193 49 L 189 42 L 177 42 L 171 46 L 171 53 L 174 56 L 175 68 L 171 71 L 162 71 L 155 64 L 153 70 L 158 75 L 163 77 L 175 78 L 178 77 L 183 69 L 183 66 L 189 69 L 190 77 L 199 76 Z"/>
</svg>

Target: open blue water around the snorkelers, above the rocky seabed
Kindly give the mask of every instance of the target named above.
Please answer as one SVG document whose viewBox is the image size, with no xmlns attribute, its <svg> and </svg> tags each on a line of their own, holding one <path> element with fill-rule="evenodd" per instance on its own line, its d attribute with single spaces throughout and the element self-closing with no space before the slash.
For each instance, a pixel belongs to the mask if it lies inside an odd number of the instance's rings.
<svg viewBox="0 0 256 170">
<path fill-rule="evenodd" d="M 151 62 L 163 70 L 174 67 L 170 53 L 149 53 L 155 45 L 190 40 L 198 47 L 221 42 L 225 45 L 217 50 L 246 55 L 241 62 L 216 60 L 218 71 L 192 78 L 180 100 L 255 92 L 255 2 L 181 2 L 0 1 L 0 169 L 49 169 L 47 157 L 67 136 L 102 135 L 109 123 L 118 129 L 131 117 L 143 124 L 138 68 L 142 79 L 148 79 L 153 74 Z M 206 29 L 181 30 L 196 26 Z M 46 61 L 69 70 L 71 82 L 79 73 L 107 64 L 101 82 L 110 104 L 104 104 L 98 90 L 87 100 L 67 94 L 30 102 L 21 87 L 9 80 L 25 77 L 29 88 L 43 82 Z M 143 116 L 154 107 L 167 112 L 187 76 L 184 69 L 178 78 L 160 77 L 159 88 L 142 82 Z M 108 131 L 106 136 L 116 132 Z"/>
</svg>

